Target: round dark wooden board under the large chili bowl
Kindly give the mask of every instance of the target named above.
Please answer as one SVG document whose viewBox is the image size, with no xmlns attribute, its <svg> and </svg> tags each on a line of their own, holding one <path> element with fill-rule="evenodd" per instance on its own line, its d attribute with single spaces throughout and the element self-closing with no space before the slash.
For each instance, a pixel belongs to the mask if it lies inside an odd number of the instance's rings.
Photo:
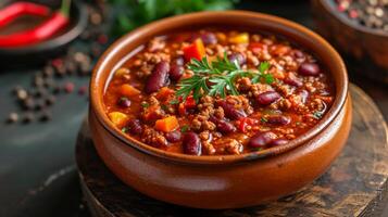
<svg viewBox="0 0 388 217">
<path fill-rule="evenodd" d="M 203 210 L 150 199 L 122 183 L 103 165 L 87 124 L 78 135 L 80 184 L 96 217 L 129 216 L 376 216 L 386 205 L 387 126 L 373 101 L 351 86 L 353 125 L 348 143 L 329 170 L 298 193 L 241 209 Z"/>
</svg>

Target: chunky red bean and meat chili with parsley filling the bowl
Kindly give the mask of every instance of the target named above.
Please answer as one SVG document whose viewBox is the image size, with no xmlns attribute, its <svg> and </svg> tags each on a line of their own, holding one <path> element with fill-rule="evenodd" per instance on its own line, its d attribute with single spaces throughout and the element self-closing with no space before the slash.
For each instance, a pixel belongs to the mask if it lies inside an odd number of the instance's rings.
<svg viewBox="0 0 388 217">
<path fill-rule="evenodd" d="M 167 152 L 284 145 L 313 128 L 335 97 L 324 65 L 275 35 L 183 30 L 142 48 L 113 72 L 104 108 L 123 133 Z"/>
</svg>

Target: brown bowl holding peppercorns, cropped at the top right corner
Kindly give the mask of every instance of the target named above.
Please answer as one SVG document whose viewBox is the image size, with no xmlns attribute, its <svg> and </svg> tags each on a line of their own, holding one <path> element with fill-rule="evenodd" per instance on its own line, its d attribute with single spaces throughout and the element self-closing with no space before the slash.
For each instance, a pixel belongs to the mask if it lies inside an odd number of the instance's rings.
<svg viewBox="0 0 388 217">
<path fill-rule="evenodd" d="M 347 56 L 352 71 L 388 84 L 388 33 L 351 22 L 334 0 L 312 0 L 317 31 Z"/>
</svg>

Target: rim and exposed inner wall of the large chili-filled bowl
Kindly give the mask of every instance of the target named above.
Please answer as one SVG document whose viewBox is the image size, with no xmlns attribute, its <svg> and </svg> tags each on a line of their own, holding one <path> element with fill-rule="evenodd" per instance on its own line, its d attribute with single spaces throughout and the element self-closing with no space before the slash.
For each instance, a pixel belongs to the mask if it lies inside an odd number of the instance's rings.
<svg viewBox="0 0 388 217">
<path fill-rule="evenodd" d="M 290 141 L 283 146 L 271 148 L 263 151 L 221 156 L 191 156 L 186 154 L 170 153 L 152 148 L 136 139 L 122 133 L 109 120 L 103 110 L 103 92 L 109 82 L 112 72 L 118 67 L 130 54 L 136 53 L 140 46 L 154 36 L 166 35 L 185 28 L 223 27 L 238 30 L 258 33 L 271 33 L 283 36 L 287 40 L 300 46 L 313 53 L 331 75 L 336 89 L 336 98 L 333 106 L 323 119 L 306 133 Z M 185 163 L 230 163 L 237 161 L 250 161 L 263 158 L 270 155 L 280 154 L 291 150 L 310 139 L 314 138 L 338 115 L 345 104 L 348 92 L 348 77 L 346 67 L 339 54 L 323 38 L 313 31 L 286 20 L 253 12 L 227 11 L 227 12 L 200 12 L 165 18 L 138 28 L 122 37 L 112 44 L 99 60 L 91 78 L 90 99 L 91 108 L 99 122 L 108 131 L 123 142 L 148 154 L 175 159 Z"/>
</svg>

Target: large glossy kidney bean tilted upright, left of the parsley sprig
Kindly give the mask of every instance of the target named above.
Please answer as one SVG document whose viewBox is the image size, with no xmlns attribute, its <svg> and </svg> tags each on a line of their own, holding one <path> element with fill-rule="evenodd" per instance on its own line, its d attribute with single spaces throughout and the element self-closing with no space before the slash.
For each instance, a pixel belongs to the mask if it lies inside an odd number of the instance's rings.
<svg viewBox="0 0 388 217">
<path fill-rule="evenodd" d="M 158 63 L 153 69 L 150 77 L 146 82 L 145 91 L 146 93 L 152 93 L 159 91 L 162 87 L 167 84 L 168 80 L 170 64 L 165 61 Z"/>
</svg>

